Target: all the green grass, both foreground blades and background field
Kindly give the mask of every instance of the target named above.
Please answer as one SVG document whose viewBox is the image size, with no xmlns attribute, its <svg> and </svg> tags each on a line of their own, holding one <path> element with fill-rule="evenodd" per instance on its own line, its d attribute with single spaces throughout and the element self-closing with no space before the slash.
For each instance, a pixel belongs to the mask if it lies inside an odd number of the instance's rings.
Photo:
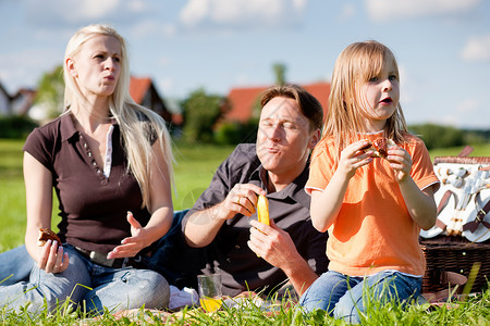
<svg viewBox="0 0 490 326">
<path fill-rule="evenodd" d="M 0 139 L 0 252 L 17 247 L 24 242 L 25 231 L 25 191 L 22 176 L 23 140 Z M 175 210 L 189 208 L 200 192 L 208 186 L 216 168 L 231 153 L 233 147 L 210 145 L 175 145 Z M 456 155 L 462 148 L 433 150 L 431 158 Z M 490 156 L 490 145 L 475 147 L 475 156 Z M 54 210 L 57 202 L 53 203 Z M 53 218 L 57 221 L 56 213 Z M 53 223 L 56 225 L 57 222 Z M 343 325 L 333 321 L 322 312 L 306 314 L 301 309 L 278 306 L 274 313 L 264 313 L 252 304 L 224 309 L 215 315 L 204 314 L 199 310 L 183 311 L 172 317 L 175 325 Z M 368 312 L 366 325 L 490 325 L 490 290 L 481 296 L 456 302 L 442 308 L 413 305 L 403 311 L 397 305 L 372 309 Z M 83 318 L 84 316 L 82 316 Z M 170 319 L 169 319 L 170 321 Z M 30 317 L 27 314 L 5 315 L 0 310 L 2 325 L 42 324 L 42 325 L 164 325 L 164 318 L 149 312 L 140 312 L 135 318 L 115 319 L 107 315 L 101 319 L 84 319 L 81 322 L 76 313 L 60 310 L 54 315 L 41 314 Z"/>
</svg>

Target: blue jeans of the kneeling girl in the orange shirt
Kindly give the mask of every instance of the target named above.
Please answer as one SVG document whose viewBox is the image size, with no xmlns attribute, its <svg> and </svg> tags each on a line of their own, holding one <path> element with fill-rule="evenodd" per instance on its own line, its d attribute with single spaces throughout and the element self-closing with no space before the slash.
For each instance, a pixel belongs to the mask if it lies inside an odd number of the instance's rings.
<svg viewBox="0 0 490 326">
<path fill-rule="evenodd" d="M 421 281 L 421 277 L 411 277 L 395 271 L 366 277 L 351 277 L 329 271 L 306 290 L 299 304 L 306 311 L 322 309 L 335 318 L 358 324 L 370 302 L 395 300 L 403 304 L 416 299 L 420 294 Z"/>
</svg>

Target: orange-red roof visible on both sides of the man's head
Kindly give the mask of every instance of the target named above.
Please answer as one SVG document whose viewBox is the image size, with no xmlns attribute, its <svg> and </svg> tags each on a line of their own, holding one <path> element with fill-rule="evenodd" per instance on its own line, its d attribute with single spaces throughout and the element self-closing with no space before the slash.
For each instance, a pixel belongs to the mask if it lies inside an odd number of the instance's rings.
<svg viewBox="0 0 490 326">
<path fill-rule="evenodd" d="M 323 106 L 324 116 L 324 113 L 327 112 L 327 101 L 330 95 L 330 84 L 319 82 L 302 86 L 320 101 Z M 231 109 L 224 114 L 224 120 L 242 123 L 247 122 L 252 117 L 254 105 L 260 100 L 261 92 L 267 88 L 267 86 L 264 86 L 231 89 L 228 96 Z"/>
</svg>

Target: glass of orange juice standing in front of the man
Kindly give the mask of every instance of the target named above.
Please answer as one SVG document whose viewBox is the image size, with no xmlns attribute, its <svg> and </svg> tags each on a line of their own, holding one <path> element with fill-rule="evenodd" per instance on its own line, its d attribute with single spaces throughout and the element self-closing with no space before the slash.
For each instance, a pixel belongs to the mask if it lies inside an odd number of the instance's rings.
<svg viewBox="0 0 490 326">
<path fill-rule="evenodd" d="M 221 297 L 221 274 L 197 276 L 197 289 L 200 306 L 206 312 L 215 312 L 223 303 Z"/>
</svg>

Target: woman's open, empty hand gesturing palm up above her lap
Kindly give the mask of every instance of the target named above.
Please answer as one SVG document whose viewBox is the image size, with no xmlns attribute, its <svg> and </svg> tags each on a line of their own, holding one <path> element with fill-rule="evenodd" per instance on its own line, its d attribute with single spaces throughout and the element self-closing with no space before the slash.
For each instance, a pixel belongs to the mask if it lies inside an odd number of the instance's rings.
<svg viewBox="0 0 490 326">
<path fill-rule="evenodd" d="M 119 259 L 119 258 L 130 258 L 135 256 L 144 248 L 151 243 L 146 243 L 146 229 L 142 227 L 139 222 L 134 218 L 133 213 L 127 212 L 127 222 L 131 224 L 131 237 L 124 238 L 121 241 L 121 246 L 112 249 L 111 252 L 107 254 L 107 259 Z"/>
</svg>

